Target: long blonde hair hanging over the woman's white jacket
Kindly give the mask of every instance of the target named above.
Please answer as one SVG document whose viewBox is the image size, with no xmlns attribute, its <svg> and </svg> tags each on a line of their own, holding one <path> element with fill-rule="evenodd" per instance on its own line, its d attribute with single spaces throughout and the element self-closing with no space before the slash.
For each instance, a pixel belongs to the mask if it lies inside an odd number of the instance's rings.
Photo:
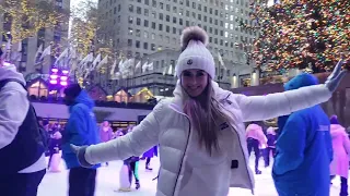
<svg viewBox="0 0 350 196">
<path fill-rule="evenodd" d="M 199 97 L 188 97 L 184 102 L 184 112 L 189 117 L 191 126 L 198 132 L 199 145 L 211 155 L 219 148 L 219 123 L 228 118 L 220 111 L 219 102 L 213 98 L 211 78 Z M 186 93 L 184 93 L 186 94 Z"/>
</svg>

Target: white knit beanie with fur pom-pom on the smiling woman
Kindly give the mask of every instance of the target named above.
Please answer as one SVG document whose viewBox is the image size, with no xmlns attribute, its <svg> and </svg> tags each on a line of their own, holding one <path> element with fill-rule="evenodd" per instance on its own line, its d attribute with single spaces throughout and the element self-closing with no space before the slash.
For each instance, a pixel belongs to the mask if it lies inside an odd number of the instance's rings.
<svg viewBox="0 0 350 196">
<path fill-rule="evenodd" d="M 180 37 L 182 53 L 175 66 L 179 78 L 184 70 L 198 69 L 207 72 L 211 78 L 215 77 L 215 63 L 207 49 L 208 34 L 199 26 L 190 26 L 183 30 Z"/>
</svg>

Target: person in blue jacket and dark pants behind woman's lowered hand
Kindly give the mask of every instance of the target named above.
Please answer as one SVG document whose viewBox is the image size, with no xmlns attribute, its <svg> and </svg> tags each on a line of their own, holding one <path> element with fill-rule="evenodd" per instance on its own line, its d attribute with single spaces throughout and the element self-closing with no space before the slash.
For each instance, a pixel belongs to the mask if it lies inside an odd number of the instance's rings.
<svg viewBox="0 0 350 196">
<path fill-rule="evenodd" d="M 93 196 L 96 169 L 82 168 L 70 145 L 94 145 L 100 143 L 98 127 L 93 112 L 94 101 L 78 84 L 65 89 L 65 103 L 70 118 L 62 133 L 62 155 L 69 171 L 69 196 Z"/>
</svg>

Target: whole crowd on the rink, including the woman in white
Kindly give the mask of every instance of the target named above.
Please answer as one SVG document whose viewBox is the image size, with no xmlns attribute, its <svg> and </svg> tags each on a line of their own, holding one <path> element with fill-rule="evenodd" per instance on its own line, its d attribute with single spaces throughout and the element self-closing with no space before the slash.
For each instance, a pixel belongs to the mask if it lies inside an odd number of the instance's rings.
<svg viewBox="0 0 350 196">
<path fill-rule="evenodd" d="M 36 123 L 23 75 L 14 65 L 4 65 L 0 52 L 0 160 L 7 160 L 0 161 L 1 195 L 37 195 L 60 149 L 69 170 L 69 196 L 93 196 L 96 170 L 112 160 L 124 160 L 120 191 L 130 191 L 132 176 L 140 188 L 139 156 L 154 146 L 162 152 L 156 196 L 226 196 L 230 187 L 254 194 L 248 155 L 255 151 L 258 159 L 260 148 L 275 154 L 271 175 L 278 195 L 329 196 L 334 175 L 341 176 L 340 195 L 348 195 L 349 138 L 319 106 L 347 74 L 342 61 L 325 84 L 301 74 L 284 85 L 283 93 L 248 97 L 214 82 L 215 64 L 207 45 L 202 28 L 184 29 L 174 97 L 159 102 L 137 126 L 117 131 L 115 138 L 107 123 L 98 130 L 94 101 L 79 84 L 63 91 L 70 113 L 63 130 L 59 123 Z M 273 118 L 278 118 L 277 137 L 244 124 Z M 261 173 L 258 160 L 255 173 Z"/>
</svg>

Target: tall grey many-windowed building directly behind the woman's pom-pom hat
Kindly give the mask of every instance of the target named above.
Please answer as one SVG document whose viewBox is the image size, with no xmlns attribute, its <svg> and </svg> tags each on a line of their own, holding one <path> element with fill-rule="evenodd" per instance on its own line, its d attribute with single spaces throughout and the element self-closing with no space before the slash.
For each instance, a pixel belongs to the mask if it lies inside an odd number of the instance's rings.
<svg viewBox="0 0 350 196">
<path fill-rule="evenodd" d="M 182 30 L 201 26 L 209 34 L 209 50 L 217 59 L 221 78 L 215 79 L 228 83 L 234 68 L 247 64 L 244 52 L 249 51 L 257 35 L 240 27 L 241 21 L 248 23 L 248 0 L 100 0 L 98 10 L 104 21 L 98 40 L 113 40 L 115 50 L 127 58 L 178 50 Z M 219 56 L 225 68 L 220 65 Z"/>
</svg>

